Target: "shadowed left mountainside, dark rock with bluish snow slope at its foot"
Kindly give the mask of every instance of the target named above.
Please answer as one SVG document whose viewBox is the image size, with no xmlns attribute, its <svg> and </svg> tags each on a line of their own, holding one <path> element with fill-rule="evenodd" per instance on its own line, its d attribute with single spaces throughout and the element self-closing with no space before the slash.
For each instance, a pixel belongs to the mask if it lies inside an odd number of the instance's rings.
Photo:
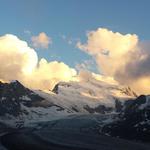
<svg viewBox="0 0 150 150">
<path fill-rule="evenodd" d="M 0 82 L 0 121 L 11 126 L 54 118 L 64 109 L 45 100 L 19 81 Z M 58 112 L 58 113 L 57 113 Z M 49 118 L 47 118 L 49 120 Z"/>
</svg>

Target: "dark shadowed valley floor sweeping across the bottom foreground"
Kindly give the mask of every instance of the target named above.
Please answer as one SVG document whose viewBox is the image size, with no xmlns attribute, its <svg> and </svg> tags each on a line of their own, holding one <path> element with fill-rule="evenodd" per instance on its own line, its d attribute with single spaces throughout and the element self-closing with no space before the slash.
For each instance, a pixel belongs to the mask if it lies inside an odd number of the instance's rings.
<svg viewBox="0 0 150 150">
<path fill-rule="evenodd" d="M 98 116 L 71 116 L 1 137 L 8 150 L 150 150 L 150 145 L 100 134 Z"/>
</svg>

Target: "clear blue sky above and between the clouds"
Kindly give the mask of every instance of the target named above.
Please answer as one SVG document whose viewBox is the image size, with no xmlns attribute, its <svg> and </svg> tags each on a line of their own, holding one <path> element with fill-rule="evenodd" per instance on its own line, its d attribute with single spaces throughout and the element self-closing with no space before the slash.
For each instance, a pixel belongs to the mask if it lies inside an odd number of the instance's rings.
<svg viewBox="0 0 150 150">
<path fill-rule="evenodd" d="M 149 40 L 149 7 L 149 0 L 0 0 L 0 35 L 14 34 L 32 47 L 31 36 L 45 32 L 53 44 L 47 50 L 35 49 L 38 56 L 74 67 L 92 59 L 75 47 L 77 39 L 86 40 L 87 31 L 105 27 Z"/>
</svg>

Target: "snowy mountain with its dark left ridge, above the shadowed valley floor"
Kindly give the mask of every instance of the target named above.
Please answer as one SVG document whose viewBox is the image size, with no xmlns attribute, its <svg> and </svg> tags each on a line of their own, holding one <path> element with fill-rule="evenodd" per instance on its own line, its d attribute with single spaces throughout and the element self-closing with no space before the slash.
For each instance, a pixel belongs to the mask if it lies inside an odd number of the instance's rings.
<svg viewBox="0 0 150 150">
<path fill-rule="evenodd" d="M 102 81 L 60 82 L 52 91 L 30 90 L 19 81 L 0 82 L 0 120 L 27 125 L 70 114 L 106 114 L 118 109 L 116 102 L 133 99 L 118 85 Z"/>
</svg>

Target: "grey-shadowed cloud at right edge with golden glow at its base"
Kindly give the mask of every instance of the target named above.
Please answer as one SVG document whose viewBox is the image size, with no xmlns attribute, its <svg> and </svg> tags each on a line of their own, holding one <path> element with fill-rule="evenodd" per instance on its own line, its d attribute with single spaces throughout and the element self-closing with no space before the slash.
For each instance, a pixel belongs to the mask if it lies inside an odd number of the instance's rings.
<svg viewBox="0 0 150 150">
<path fill-rule="evenodd" d="M 121 84 L 131 84 L 139 93 L 150 93 L 150 44 L 139 42 L 137 50 L 128 55 L 127 63 L 115 73 Z"/>
</svg>

